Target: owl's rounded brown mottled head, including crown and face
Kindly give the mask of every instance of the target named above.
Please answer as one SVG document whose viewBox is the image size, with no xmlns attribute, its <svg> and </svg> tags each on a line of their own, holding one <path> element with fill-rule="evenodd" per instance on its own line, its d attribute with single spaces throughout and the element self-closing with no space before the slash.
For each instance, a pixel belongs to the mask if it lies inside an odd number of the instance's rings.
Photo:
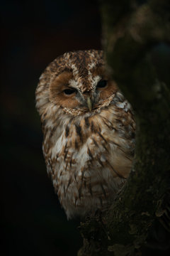
<svg viewBox="0 0 170 256">
<path fill-rule="evenodd" d="M 64 53 L 40 77 L 37 107 L 40 109 L 39 97 L 44 93 L 45 103 L 60 106 L 65 112 L 96 112 L 109 105 L 117 90 L 115 82 L 106 75 L 102 50 Z"/>
</svg>

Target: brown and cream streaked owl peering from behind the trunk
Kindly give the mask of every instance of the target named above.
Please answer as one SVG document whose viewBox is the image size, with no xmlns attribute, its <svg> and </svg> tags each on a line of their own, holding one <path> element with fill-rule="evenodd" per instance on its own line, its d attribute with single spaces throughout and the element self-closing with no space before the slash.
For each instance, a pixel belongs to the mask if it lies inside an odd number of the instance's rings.
<svg viewBox="0 0 170 256">
<path fill-rule="evenodd" d="M 35 95 L 47 173 L 67 218 L 105 209 L 130 174 L 135 119 L 107 75 L 103 51 L 56 58 Z"/>
</svg>

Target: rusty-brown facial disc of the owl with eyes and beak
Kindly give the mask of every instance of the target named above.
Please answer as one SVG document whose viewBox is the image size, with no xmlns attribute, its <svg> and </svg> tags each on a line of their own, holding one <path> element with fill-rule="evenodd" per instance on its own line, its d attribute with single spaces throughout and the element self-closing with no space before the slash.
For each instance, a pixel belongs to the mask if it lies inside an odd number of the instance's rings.
<svg viewBox="0 0 170 256">
<path fill-rule="evenodd" d="M 75 79 L 72 72 L 57 75 L 49 86 L 50 101 L 67 110 L 93 112 L 104 107 L 106 99 L 115 93 L 115 83 L 105 75 L 91 74 L 91 77 Z"/>
</svg>

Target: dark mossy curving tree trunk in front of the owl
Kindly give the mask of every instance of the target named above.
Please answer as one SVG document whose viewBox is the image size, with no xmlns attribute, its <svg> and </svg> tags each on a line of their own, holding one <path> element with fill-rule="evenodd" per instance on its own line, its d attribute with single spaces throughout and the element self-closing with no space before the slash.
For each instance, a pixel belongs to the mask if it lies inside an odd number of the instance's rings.
<svg viewBox="0 0 170 256">
<path fill-rule="evenodd" d="M 81 223 L 84 245 L 78 255 L 141 255 L 151 227 L 168 207 L 170 85 L 154 68 L 152 50 L 170 41 L 170 1 L 100 4 L 108 70 L 135 110 L 135 159 L 111 208 Z"/>
</svg>

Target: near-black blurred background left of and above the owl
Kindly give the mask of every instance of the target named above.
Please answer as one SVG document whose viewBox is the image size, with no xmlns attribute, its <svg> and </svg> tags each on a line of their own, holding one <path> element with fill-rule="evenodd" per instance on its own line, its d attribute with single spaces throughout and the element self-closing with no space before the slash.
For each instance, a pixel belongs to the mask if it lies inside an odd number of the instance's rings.
<svg viewBox="0 0 170 256">
<path fill-rule="evenodd" d="M 42 156 L 35 88 L 69 50 L 101 49 L 96 1 L 1 1 L 0 255 L 76 255 L 77 221 L 67 221 Z"/>
</svg>

